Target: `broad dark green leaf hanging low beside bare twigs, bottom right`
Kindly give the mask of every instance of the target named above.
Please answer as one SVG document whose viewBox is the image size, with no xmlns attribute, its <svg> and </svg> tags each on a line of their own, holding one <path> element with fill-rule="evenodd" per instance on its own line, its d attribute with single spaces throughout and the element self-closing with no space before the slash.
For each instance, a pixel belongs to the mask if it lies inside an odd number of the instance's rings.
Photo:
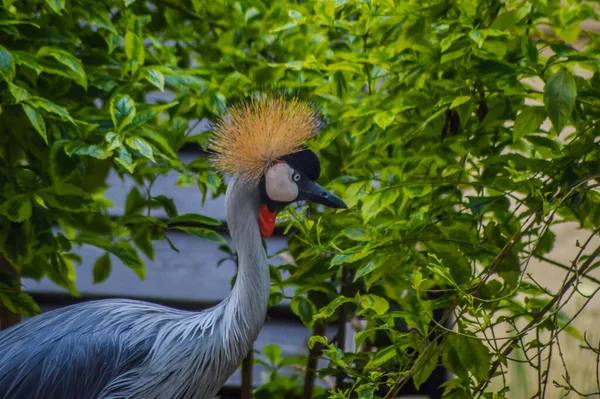
<svg viewBox="0 0 600 399">
<path fill-rule="evenodd" d="M 489 349 L 480 339 L 462 334 L 452 334 L 448 336 L 448 342 L 456 351 L 463 366 L 479 381 L 489 378 L 492 357 Z"/>
</svg>

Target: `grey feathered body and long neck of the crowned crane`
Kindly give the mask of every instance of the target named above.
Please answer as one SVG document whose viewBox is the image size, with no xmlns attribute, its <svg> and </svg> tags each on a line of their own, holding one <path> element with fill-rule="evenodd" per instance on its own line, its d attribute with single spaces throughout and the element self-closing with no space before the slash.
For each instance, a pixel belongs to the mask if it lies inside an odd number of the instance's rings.
<svg viewBox="0 0 600 399">
<path fill-rule="evenodd" d="M 1 399 L 210 399 L 264 323 L 269 268 L 255 186 L 229 185 L 238 275 L 229 296 L 189 312 L 132 300 L 54 310 L 0 333 Z"/>
</svg>

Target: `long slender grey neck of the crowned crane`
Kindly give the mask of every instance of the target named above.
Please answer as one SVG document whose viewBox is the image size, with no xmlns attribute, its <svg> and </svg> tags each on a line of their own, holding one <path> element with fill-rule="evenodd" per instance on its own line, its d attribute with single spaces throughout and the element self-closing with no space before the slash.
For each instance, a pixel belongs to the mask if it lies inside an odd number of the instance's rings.
<svg viewBox="0 0 600 399">
<path fill-rule="evenodd" d="M 223 333 L 234 358 L 240 361 L 258 336 L 269 303 L 269 263 L 258 226 L 259 206 L 257 185 L 234 176 L 225 195 L 225 208 L 237 249 L 238 273 L 225 301 Z"/>
</svg>

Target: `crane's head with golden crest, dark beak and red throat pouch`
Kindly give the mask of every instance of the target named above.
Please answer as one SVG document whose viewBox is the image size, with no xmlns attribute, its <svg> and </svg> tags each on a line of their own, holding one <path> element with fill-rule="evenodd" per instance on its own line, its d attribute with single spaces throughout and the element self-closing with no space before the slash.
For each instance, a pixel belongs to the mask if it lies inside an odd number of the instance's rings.
<svg viewBox="0 0 600 399">
<path fill-rule="evenodd" d="M 211 143 L 213 164 L 258 185 L 258 222 L 265 238 L 273 233 L 277 213 L 295 201 L 347 208 L 317 183 L 319 159 L 304 147 L 319 124 L 310 105 L 277 97 L 233 107 L 216 126 Z"/>
</svg>

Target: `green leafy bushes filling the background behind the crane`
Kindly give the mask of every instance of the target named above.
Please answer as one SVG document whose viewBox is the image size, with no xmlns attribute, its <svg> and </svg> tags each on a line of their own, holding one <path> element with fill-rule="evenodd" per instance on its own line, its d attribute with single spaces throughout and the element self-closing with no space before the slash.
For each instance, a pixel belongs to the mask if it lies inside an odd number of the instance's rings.
<svg viewBox="0 0 600 399">
<path fill-rule="evenodd" d="M 323 180 L 351 210 L 286 212 L 295 263 L 283 268 L 289 277 L 273 275 L 272 303 L 279 288 L 297 288 L 292 310 L 316 332 L 310 354 L 329 361 L 318 375 L 338 377 L 329 397 L 392 398 L 439 364 L 456 377 L 445 397 L 504 397 L 513 351 L 540 370 L 538 395 L 550 392 L 559 334 L 583 337 L 578 313 L 562 308 L 584 282 L 590 297 L 598 286 L 589 273 L 600 253 L 591 240 L 600 227 L 600 41 L 581 29 L 598 19 L 590 4 L 9 3 L 2 225 L 4 256 L 22 275 L 45 273 L 74 292 L 71 243 L 104 248 L 143 275 L 135 248 L 151 255 L 169 226 L 140 211 L 160 205 L 175 216 L 172 203 L 134 190 L 128 215 L 111 221 L 107 171 L 144 187 L 177 170 L 222 193 L 203 160 L 177 161 L 183 145 L 204 146 L 209 135 L 190 136 L 188 121 L 213 119 L 257 88 L 303 89 L 328 120 L 312 143 Z M 581 35 L 587 43 L 574 47 Z M 148 104 L 163 86 L 173 102 Z M 565 222 L 590 234 L 569 265 L 550 253 L 552 228 Z M 107 259 L 96 263 L 99 280 Z M 558 290 L 528 275 L 532 259 L 565 269 Z M 26 305 L 15 310 L 33 311 L 19 298 Z M 356 348 L 323 336 L 340 318 L 359 328 Z M 275 372 L 256 394 L 293 397 L 300 384 Z M 569 378 L 554 386 L 577 392 Z"/>
</svg>

